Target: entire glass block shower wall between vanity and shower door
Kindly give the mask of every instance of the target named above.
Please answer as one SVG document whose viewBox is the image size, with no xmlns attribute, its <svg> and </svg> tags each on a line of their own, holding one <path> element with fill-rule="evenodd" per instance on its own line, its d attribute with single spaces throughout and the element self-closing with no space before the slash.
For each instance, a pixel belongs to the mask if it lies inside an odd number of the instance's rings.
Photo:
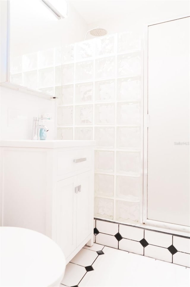
<svg viewBox="0 0 190 287">
<path fill-rule="evenodd" d="M 142 52 L 130 32 L 63 49 L 57 139 L 95 140 L 94 216 L 137 224 L 142 173 Z"/>
</svg>

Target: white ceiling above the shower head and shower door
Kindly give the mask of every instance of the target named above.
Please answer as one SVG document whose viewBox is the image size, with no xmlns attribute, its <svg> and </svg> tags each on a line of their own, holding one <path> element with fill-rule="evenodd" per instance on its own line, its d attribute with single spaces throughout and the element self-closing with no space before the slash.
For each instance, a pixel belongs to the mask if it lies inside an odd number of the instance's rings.
<svg viewBox="0 0 190 287">
<path fill-rule="evenodd" d="M 68 0 L 78 11 L 87 24 L 127 17 L 131 14 L 138 15 L 156 12 L 165 9 L 172 10 L 176 2 L 189 2 L 186 0 Z"/>
</svg>

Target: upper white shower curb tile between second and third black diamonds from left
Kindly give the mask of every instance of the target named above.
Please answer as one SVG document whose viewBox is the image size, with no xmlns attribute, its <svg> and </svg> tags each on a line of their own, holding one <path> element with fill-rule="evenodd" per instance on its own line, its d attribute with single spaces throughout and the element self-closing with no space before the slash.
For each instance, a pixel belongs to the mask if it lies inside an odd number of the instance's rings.
<svg viewBox="0 0 190 287">
<path fill-rule="evenodd" d="M 144 229 L 119 224 L 119 233 L 123 238 L 140 241 L 144 238 Z"/>
</svg>

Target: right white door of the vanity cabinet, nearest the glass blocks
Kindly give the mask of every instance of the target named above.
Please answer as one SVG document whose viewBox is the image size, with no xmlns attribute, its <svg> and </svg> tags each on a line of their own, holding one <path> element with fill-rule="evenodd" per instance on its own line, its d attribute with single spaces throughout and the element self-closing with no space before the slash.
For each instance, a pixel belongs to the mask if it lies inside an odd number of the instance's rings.
<svg viewBox="0 0 190 287">
<path fill-rule="evenodd" d="M 88 171 L 77 176 L 77 246 L 92 232 L 93 174 Z"/>
</svg>

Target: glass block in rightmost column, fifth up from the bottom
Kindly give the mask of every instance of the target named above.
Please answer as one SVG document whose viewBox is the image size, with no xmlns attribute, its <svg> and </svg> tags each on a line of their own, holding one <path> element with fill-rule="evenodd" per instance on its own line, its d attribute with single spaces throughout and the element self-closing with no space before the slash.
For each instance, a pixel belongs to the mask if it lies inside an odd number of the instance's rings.
<svg viewBox="0 0 190 287">
<path fill-rule="evenodd" d="M 118 103 L 117 104 L 118 124 L 140 123 L 140 103 Z"/>
</svg>

